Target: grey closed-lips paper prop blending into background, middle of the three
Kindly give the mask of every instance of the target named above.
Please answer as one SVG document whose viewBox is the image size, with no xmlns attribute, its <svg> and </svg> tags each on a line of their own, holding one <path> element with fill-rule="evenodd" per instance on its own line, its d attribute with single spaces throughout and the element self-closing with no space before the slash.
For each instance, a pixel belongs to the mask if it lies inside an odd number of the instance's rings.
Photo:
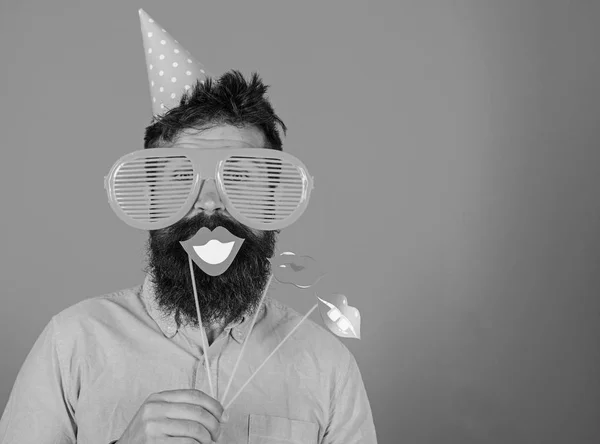
<svg viewBox="0 0 600 444">
<path fill-rule="evenodd" d="M 291 251 L 281 253 L 269 261 L 273 276 L 282 284 L 292 284 L 305 289 L 316 284 L 325 275 L 312 257 L 296 256 Z"/>
</svg>

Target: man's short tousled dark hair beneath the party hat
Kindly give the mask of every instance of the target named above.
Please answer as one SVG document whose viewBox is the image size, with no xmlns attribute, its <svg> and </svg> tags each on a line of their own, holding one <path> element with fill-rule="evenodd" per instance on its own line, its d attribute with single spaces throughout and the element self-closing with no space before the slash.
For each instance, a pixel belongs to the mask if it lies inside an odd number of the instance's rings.
<svg viewBox="0 0 600 444">
<path fill-rule="evenodd" d="M 162 117 L 154 117 L 146 128 L 144 148 L 158 148 L 175 141 L 188 128 L 209 129 L 218 125 L 238 128 L 256 127 L 265 136 L 266 148 L 281 151 L 282 143 L 277 126 L 286 133 L 286 126 L 275 114 L 265 96 L 264 85 L 257 73 L 247 81 L 236 70 L 226 72 L 219 79 L 207 78 L 196 84 L 181 98 L 179 106 Z"/>
</svg>

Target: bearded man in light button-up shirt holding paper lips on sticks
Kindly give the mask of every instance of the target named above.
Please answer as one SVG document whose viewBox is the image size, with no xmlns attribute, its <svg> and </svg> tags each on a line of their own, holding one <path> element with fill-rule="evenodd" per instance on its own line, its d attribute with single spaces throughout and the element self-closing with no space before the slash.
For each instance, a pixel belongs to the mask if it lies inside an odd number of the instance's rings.
<svg viewBox="0 0 600 444">
<path fill-rule="evenodd" d="M 197 82 L 146 129 L 144 146 L 281 150 L 278 126 L 286 128 L 265 91 L 257 75 L 236 71 Z M 223 273 L 194 265 L 192 281 L 180 242 L 203 227 L 244 241 Z M 246 335 L 235 391 L 301 318 L 271 297 L 259 307 L 276 233 L 236 221 L 215 180 L 203 179 L 185 217 L 150 231 L 143 285 L 81 301 L 47 324 L 17 376 L 0 443 L 375 443 L 354 357 L 309 320 L 224 412 Z"/>
</svg>

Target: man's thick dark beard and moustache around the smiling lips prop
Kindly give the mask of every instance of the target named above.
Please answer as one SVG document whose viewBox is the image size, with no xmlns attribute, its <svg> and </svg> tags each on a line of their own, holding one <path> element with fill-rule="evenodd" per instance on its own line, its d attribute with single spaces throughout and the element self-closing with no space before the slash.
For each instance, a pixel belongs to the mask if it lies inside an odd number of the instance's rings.
<svg viewBox="0 0 600 444">
<path fill-rule="evenodd" d="M 218 226 L 244 242 L 229 268 L 219 276 L 204 273 L 192 262 L 202 324 L 237 323 L 258 308 L 271 273 L 268 259 L 275 252 L 279 230 L 262 231 L 257 236 L 222 213 L 210 217 L 199 213 L 170 227 L 151 230 L 146 245 L 148 263 L 144 271 L 150 274 L 158 306 L 164 315 L 174 314 L 179 326 L 198 327 L 188 254 L 179 242 L 191 239 L 202 227 L 214 230 Z"/>
</svg>

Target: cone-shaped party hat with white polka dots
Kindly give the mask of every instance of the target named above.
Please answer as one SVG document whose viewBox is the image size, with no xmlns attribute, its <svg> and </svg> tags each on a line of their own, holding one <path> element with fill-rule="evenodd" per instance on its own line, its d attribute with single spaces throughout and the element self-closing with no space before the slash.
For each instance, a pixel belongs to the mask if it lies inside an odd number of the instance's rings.
<svg viewBox="0 0 600 444">
<path fill-rule="evenodd" d="M 197 80 L 204 83 L 210 74 L 146 11 L 140 9 L 138 12 L 144 38 L 152 114 L 156 117 L 179 106 L 181 96 Z"/>
</svg>

